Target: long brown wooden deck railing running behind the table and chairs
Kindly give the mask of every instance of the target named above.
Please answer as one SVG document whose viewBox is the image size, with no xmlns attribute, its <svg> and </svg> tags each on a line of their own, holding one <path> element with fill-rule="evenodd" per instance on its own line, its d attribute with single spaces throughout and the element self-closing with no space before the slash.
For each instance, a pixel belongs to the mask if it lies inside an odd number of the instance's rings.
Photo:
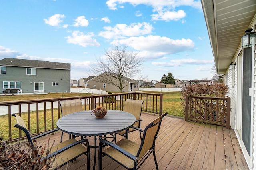
<svg viewBox="0 0 256 170">
<path fill-rule="evenodd" d="M 11 141 L 24 136 L 21 131 L 18 132 L 18 129 L 14 128 L 15 119 L 11 116 L 13 113 L 22 116 L 28 124 L 28 130 L 33 135 L 52 130 L 56 128 L 56 121 L 61 115 L 58 100 L 77 98 L 82 101 L 84 110 L 92 110 L 96 105 L 104 106 L 106 109 L 123 110 L 126 99 L 144 100 L 142 112 L 162 115 L 162 93 L 127 92 L 37 100 L 16 100 L 0 102 L 0 106 L 6 107 L 8 112 L 8 120 L 6 118 L 6 125 L 8 124 L 8 126 L 1 129 L 1 131 L 8 131 L 8 139 Z M 2 118 L 3 116 L 0 116 L 0 119 Z"/>
</svg>

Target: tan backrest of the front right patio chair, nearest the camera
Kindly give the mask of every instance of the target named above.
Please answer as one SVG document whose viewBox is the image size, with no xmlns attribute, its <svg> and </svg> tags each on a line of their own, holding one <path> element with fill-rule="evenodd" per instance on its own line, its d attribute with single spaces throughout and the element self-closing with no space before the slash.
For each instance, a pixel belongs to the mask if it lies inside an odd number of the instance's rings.
<svg viewBox="0 0 256 170">
<path fill-rule="evenodd" d="M 144 129 L 142 141 L 140 144 L 140 149 L 138 150 L 137 157 L 138 160 L 140 160 L 148 150 L 154 148 L 155 142 L 156 142 L 156 136 L 159 132 L 161 122 L 164 116 L 166 116 L 168 113 L 162 114 L 158 118 L 156 118 L 153 122 L 148 124 L 146 128 Z"/>
</svg>

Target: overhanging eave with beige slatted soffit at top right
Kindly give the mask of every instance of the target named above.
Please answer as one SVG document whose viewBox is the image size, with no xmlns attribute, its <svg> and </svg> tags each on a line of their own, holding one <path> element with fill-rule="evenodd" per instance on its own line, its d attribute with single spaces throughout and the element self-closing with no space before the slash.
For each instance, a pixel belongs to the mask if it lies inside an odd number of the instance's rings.
<svg viewBox="0 0 256 170">
<path fill-rule="evenodd" d="M 217 73 L 225 73 L 241 50 L 244 30 L 252 28 L 256 0 L 201 0 Z"/>
</svg>

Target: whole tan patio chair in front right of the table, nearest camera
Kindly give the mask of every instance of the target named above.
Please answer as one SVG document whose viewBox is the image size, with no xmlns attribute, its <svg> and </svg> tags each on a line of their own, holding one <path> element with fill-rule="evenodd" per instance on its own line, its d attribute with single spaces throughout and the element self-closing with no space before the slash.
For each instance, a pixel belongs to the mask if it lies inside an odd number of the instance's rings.
<svg viewBox="0 0 256 170">
<path fill-rule="evenodd" d="M 166 112 L 162 116 L 156 118 L 153 122 L 146 126 L 144 131 L 140 128 L 136 128 L 143 132 L 141 144 L 137 144 L 126 138 L 121 139 L 120 141 L 116 142 L 116 144 L 104 139 L 100 139 L 98 156 L 99 170 L 102 170 L 103 156 L 112 158 L 114 161 L 118 162 L 128 170 L 137 170 L 151 153 L 153 153 L 154 156 L 156 169 L 159 170 L 156 160 L 155 143 L 162 118 L 167 114 L 168 113 Z M 110 147 L 102 150 L 103 145 L 108 145 Z"/>
</svg>

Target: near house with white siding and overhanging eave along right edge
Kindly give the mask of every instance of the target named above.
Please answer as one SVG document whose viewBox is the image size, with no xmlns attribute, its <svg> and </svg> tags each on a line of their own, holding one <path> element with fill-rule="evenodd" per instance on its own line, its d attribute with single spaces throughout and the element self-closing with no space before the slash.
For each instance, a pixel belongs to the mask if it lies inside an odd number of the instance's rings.
<svg viewBox="0 0 256 170">
<path fill-rule="evenodd" d="M 230 126 L 249 169 L 255 170 L 256 0 L 201 2 L 216 70 L 229 89 Z"/>
</svg>

